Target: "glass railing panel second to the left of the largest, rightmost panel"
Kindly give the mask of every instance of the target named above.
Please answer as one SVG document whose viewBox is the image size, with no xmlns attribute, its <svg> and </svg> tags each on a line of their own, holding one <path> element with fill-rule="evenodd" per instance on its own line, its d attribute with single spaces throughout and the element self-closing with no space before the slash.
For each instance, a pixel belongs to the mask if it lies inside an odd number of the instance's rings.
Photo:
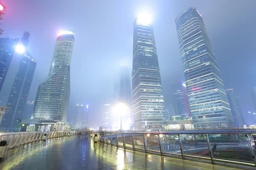
<svg viewBox="0 0 256 170">
<path fill-rule="evenodd" d="M 163 152 L 180 154 L 180 143 L 178 135 L 160 135 L 163 143 Z"/>
</svg>

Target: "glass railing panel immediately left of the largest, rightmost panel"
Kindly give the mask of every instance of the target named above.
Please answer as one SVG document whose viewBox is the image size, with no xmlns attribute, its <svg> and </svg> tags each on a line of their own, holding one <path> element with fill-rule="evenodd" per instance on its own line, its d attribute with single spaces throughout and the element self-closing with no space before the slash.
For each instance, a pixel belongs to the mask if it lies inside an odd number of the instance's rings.
<svg viewBox="0 0 256 170">
<path fill-rule="evenodd" d="M 184 155 L 210 158 L 205 134 L 182 134 L 180 139 L 182 140 Z"/>
</svg>

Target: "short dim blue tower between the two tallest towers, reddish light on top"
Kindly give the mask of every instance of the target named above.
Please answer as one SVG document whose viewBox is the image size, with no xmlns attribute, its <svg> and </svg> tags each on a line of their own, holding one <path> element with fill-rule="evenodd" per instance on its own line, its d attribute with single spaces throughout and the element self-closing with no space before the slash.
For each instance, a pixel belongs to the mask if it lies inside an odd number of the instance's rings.
<svg viewBox="0 0 256 170">
<path fill-rule="evenodd" d="M 190 117 L 191 111 L 189 108 L 189 99 L 186 92 L 186 84 L 183 81 L 175 82 L 171 84 L 172 98 L 174 105 L 177 105 L 177 111 L 175 116 Z"/>
</svg>

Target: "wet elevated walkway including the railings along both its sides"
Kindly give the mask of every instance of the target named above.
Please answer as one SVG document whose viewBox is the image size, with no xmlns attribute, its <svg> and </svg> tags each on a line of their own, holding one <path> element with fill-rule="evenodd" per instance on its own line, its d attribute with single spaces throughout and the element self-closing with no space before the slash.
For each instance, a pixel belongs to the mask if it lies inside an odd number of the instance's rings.
<svg viewBox="0 0 256 170">
<path fill-rule="evenodd" d="M 187 132 L 187 133 L 184 133 Z M 71 136 L 67 136 L 71 133 Z M 0 133 L 9 139 L 3 170 L 235 170 L 255 169 L 256 131 Z M 47 140 L 42 141 L 44 134 Z M 134 152 L 138 151 L 138 152 Z M 192 160 L 192 161 L 191 161 Z M 227 167 L 229 166 L 229 167 Z"/>
</svg>

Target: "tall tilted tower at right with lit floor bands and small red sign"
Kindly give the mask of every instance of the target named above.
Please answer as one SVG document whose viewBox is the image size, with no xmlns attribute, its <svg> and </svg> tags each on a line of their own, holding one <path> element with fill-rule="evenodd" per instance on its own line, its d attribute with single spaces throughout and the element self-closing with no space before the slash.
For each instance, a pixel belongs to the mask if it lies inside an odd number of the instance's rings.
<svg viewBox="0 0 256 170">
<path fill-rule="evenodd" d="M 175 20 L 194 127 L 233 127 L 233 116 L 218 63 L 196 8 Z"/>
</svg>

